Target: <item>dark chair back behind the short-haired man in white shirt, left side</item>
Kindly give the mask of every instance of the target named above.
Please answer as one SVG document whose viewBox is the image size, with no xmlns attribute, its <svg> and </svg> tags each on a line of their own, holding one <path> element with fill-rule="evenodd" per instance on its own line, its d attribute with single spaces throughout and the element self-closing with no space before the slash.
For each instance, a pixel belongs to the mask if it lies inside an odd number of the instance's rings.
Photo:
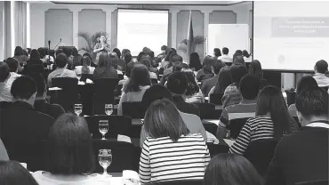
<svg viewBox="0 0 329 185">
<path fill-rule="evenodd" d="M 74 104 L 76 104 L 76 102 L 78 101 L 77 78 L 52 78 L 52 85 L 60 87 L 62 89 L 58 92 L 58 97 L 55 98 L 54 103 L 60 104 L 60 106 L 67 112 L 72 111 Z"/>
</svg>

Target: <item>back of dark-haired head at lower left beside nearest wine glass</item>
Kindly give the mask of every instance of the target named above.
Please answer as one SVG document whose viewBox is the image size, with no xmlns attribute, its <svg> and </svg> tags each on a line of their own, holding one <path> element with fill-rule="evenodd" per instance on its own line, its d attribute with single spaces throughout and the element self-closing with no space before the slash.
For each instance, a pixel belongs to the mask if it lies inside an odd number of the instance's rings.
<svg viewBox="0 0 329 185">
<path fill-rule="evenodd" d="M 63 114 L 48 133 L 47 170 L 53 174 L 90 173 L 94 167 L 92 138 L 84 117 Z"/>
</svg>

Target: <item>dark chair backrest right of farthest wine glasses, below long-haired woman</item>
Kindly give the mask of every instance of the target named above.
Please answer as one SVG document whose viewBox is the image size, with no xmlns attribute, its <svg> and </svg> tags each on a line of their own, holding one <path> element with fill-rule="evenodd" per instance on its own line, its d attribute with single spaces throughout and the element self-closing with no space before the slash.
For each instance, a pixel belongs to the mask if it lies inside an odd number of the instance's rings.
<svg viewBox="0 0 329 185">
<path fill-rule="evenodd" d="M 123 102 L 122 110 L 125 116 L 132 118 L 144 118 L 146 111 L 140 101 Z"/>
</svg>

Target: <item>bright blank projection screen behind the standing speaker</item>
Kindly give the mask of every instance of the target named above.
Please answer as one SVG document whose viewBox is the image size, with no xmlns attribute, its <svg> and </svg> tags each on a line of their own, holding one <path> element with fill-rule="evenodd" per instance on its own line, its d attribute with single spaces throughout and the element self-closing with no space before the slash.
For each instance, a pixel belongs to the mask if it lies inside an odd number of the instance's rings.
<svg viewBox="0 0 329 185">
<path fill-rule="evenodd" d="M 117 47 L 130 49 L 137 56 L 144 46 L 155 54 L 167 45 L 168 11 L 119 9 L 117 14 Z"/>
</svg>

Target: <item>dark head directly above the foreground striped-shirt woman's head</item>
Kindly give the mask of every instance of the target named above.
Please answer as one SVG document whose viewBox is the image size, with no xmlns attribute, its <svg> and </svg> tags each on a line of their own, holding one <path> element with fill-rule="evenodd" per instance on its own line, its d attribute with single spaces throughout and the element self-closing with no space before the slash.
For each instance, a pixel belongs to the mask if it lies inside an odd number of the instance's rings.
<svg viewBox="0 0 329 185">
<path fill-rule="evenodd" d="M 167 99 L 172 101 L 172 93 L 165 88 L 162 84 L 152 84 L 144 93 L 141 103 L 144 108 L 148 109 L 148 106 L 157 100 Z"/>
</svg>

